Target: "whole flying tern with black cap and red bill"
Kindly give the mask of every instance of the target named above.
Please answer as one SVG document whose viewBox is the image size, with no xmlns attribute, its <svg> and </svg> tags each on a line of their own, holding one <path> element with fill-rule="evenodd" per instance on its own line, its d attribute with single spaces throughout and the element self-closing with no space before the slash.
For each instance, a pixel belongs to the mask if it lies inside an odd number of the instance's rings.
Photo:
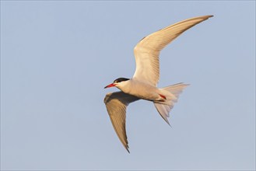
<svg viewBox="0 0 256 171">
<path fill-rule="evenodd" d="M 104 87 L 117 87 L 121 91 L 107 93 L 104 103 L 118 138 L 128 150 L 125 130 L 126 107 L 139 99 L 153 102 L 163 120 L 170 125 L 167 117 L 177 102 L 178 96 L 188 84 L 177 83 L 164 88 L 157 88 L 160 79 L 160 51 L 181 33 L 212 16 L 198 16 L 167 26 L 162 30 L 142 38 L 134 48 L 136 69 L 132 79 L 119 78 Z"/>
</svg>

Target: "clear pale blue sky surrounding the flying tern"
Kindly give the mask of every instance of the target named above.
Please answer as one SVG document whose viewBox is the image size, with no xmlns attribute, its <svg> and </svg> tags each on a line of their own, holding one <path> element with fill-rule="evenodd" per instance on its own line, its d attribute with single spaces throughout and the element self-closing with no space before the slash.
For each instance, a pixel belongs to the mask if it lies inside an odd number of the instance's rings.
<svg viewBox="0 0 256 171">
<path fill-rule="evenodd" d="M 142 37 L 203 15 L 160 56 L 160 87 L 191 84 L 172 127 L 132 103 L 128 154 L 103 87 Z M 255 2 L 1 1 L 1 169 L 255 169 Z"/>
</svg>

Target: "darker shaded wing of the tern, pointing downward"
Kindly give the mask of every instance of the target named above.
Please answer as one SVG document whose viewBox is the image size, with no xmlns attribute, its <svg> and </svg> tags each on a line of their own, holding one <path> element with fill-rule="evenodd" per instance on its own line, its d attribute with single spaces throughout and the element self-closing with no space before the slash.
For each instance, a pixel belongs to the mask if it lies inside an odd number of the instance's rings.
<svg viewBox="0 0 256 171">
<path fill-rule="evenodd" d="M 107 113 L 110 116 L 114 131 L 116 131 L 118 138 L 128 152 L 128 141 L 125 131 L 126 107 L 129 103 L 138 99 L 139 98 L 124 92 L 108 93 L 104 99 L 104 103 L 107 107 Z"/>
</svg>

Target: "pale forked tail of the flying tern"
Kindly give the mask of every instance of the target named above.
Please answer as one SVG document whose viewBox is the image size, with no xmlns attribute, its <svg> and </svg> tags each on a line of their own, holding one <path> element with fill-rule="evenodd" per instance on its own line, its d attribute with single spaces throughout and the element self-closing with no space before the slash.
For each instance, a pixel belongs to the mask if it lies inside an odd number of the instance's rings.
<svg viewBox="0 0 256 171">
<path fill-rule="evenodd" d="M 174 103 L 177 102 L 177 99 L 184 88 L 189 86 L 188 84 L 184 83 L 177 83 L 172 86 L 167 86 L 162 89 L 160 89 L 161 92 L 163 92 L 163 95 L 166 96 L 166 101 L 159 102 L 155 101 L 153 102 L 156 106 L 156 110 L 158 113 L 160 113 L 161 117 L 167 122 L 167 124 L 170 125 L 169 121 L 167 120 L 167 117 L 169 117 L 170 110 L 174 107 Z"/>
</svg>

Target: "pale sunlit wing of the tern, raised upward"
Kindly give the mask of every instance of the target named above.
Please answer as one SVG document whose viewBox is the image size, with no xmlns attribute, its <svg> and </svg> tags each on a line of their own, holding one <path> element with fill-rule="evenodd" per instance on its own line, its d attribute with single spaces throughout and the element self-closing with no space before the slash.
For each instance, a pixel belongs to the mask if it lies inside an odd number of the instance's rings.
<svg viewBox="0 0 256 171">
<path fill-rule="evenodd" d="M 156 86 L 160 78 L 159 55 L 163 47 L 170 44 L 172 40 L 184 31 L 201 23 L 205 19 L 209 19 L 209 17 L 212 16 L 199 16 L 186 19 L 143 38 L 134 49 L 136 70 L 133 79 L 139 79 Z"/>
</svg>

